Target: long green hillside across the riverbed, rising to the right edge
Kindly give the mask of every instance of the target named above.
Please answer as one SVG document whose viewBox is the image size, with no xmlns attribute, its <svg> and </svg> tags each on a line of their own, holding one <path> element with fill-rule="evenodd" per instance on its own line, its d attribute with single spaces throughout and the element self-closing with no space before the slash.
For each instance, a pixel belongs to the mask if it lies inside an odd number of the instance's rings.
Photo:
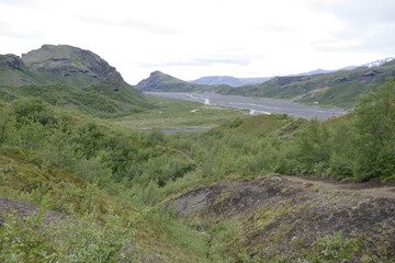
<svg viewBox="0 0 395 263">
<path fill-rule="evenodd" d="M 374 68 L 360 67 L 325 75 L 278 77 L 262 84 L 222 89 L 218 92 L 351 107 L 361 94 L 376 90 L 388 77 L 395 77 L 395 61 Z"/>
</svg>

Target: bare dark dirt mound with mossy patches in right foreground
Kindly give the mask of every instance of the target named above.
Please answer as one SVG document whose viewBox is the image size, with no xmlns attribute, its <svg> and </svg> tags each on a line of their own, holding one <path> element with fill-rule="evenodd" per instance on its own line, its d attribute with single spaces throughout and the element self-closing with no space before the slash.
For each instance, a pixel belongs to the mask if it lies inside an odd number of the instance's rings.
<svg viewBox="0 0 395 263">
<path fill-rule="evenodd" d="M 240 221 L 238 245 L 251 258 L 296 261 L 307 256 L 317 240 L 339 233 L 358 243 L 358 251 L 350 252 L 357 262 L 365 254 L 395 259 L 394 187 L 272 175 L 204 185 L 166 207 L 183 216 Z"/>
</svg>

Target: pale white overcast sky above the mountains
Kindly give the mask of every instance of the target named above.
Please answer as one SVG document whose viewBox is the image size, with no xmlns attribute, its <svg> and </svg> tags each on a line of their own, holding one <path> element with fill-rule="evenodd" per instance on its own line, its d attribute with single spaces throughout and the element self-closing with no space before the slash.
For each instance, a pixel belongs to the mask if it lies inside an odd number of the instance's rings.
<svg viewBox="0 0 395 263">
<path fill-rule="evenodd" d="M 0 54 L 72 45 L 131 84 L 362 65 L 395 56 L 394 33 L 395 0 L 0 0 Z"/>
</svg>

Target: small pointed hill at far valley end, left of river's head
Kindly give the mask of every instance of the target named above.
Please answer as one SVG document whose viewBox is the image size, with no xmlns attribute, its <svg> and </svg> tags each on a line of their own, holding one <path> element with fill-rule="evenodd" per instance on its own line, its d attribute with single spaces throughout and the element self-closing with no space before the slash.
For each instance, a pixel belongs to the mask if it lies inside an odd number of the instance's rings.
<svg viewBox="0 0 395 263">
<path fill-rule="evenodd" d="M 172 91 L 172 92 L 191 92 L 191 91 L 210 91 L 216 87 L 201 85 L 190 83 L 171 77 L 160 71 L 154 71 L 149 78 L 142 80 L 135 85 L 138 91 Z"/>
</svg>

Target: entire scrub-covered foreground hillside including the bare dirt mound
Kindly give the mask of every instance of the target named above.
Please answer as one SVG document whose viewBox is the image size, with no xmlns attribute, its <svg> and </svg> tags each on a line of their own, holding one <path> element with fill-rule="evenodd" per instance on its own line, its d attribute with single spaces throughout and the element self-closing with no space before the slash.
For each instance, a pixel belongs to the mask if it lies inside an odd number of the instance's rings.
<svg viewBox="0 0 395 263">
<path fill-rule="evenodd" d="M 0 103 L 1 262 L 393 262 L 391 80 L 325 123 L 169 135 L 23 98 L 32 87 Z"/>
</svg>

